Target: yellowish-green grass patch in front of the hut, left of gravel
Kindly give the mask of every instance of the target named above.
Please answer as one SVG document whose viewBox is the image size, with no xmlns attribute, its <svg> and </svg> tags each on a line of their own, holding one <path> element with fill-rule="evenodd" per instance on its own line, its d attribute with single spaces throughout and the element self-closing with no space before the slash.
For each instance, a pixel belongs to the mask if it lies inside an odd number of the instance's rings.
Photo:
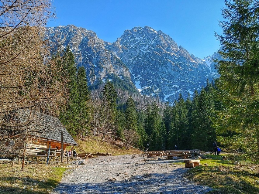
<svg viewBox="0 0 259 194">
<path fill-rule="evenodd" d="M 25 165 L 24 171 L 21 171 L 21 165 L 15 164 L 12 167 L 12 162 L 0 164 L 0 193 L 50 193 L 60 182 L 65 170 L 66 168 L 32 164 Z M 25 186 L 27 188 L 23 189 Z M 30 190 L 31 186 L 33 190 Z"/>
</svg>

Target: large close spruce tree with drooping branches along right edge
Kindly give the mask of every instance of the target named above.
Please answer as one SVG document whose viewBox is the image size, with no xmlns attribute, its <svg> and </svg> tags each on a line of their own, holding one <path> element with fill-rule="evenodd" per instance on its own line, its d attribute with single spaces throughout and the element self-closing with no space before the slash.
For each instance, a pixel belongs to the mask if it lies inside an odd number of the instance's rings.
<svg viewBox="0 0 259 194">
<path fill-rule="evenodd" d="M 225 4 L 225 21 L 219 23 L 223 33 L 216 34 L 224 60 L 215 62 L 220 74 L 219 98 L 226 109 L 218 112 L 216 125 L 219 133 L 251 132 L 257 139 L 253 152 L 259 157 L 259 1 L 233 0 Z"/>
</svg>

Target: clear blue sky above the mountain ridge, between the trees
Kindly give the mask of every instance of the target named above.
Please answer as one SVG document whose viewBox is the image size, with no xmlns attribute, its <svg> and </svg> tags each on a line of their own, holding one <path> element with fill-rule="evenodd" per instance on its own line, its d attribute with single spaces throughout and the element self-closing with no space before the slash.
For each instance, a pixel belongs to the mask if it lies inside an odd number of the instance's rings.
<svg viewBox="0 0 259 194">
<path fill-rule="evenodd" d="M 56 19 L 47 26 L 73 24 L 114 42 L 124 30 L 150 26 L 171 36 L 196 57 L 219 49 L 214 32 L 221 32 L 224 0 L 53 0 Z"/>
</svg>

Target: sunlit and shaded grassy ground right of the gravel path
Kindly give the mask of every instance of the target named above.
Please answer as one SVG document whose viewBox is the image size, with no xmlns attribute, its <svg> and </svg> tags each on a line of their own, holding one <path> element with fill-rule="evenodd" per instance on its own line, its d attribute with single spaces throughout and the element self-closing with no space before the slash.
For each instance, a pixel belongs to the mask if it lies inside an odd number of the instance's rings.
<svg viewBox="0 0 259 194">
<path fill-rule="evenodd" d="M 209 192 L 211 194 L 259 193 L 258 165 L 246 164 L 241 167 L 235 166 L 233 161 L 221 160 L 220 156 L 208 157 L 212 159 L 200 160 L 202 166 L 187 172 L 188 179 L 212 187 L 213 191 Z"/>
</svg>

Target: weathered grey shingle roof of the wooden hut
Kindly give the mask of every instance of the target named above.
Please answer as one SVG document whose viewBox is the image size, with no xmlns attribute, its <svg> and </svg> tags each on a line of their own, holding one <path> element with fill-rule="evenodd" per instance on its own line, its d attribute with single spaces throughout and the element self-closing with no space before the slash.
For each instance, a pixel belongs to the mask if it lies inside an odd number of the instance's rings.
<svg viewBox="0 0 259 194">
<path fill-rule="evenodd" d="M 63 131 L 65 144 L 78 145 L 58 118 L 37 111 L 30 112 L 29 109 L 18 110 L 17 114 L 19 120 L 26 123 L 31 135 L 61 142 L 61 131 Z"/>
</svg>

